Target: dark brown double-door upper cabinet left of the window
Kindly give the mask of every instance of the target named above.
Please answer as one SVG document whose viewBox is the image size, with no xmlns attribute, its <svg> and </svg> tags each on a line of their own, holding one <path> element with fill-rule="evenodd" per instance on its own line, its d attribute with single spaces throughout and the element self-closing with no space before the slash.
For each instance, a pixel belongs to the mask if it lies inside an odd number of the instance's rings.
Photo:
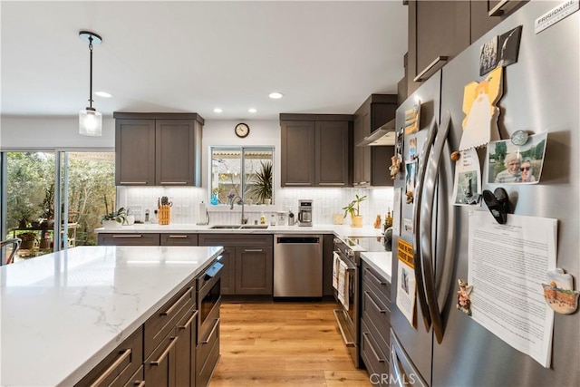
<svg viewBox="0 0 580 387">
<path fill-rule="evenodd" d="M 115 184 L 200 186 L 201 131 L 196 113 L 115 112 Z"/>
</svg>

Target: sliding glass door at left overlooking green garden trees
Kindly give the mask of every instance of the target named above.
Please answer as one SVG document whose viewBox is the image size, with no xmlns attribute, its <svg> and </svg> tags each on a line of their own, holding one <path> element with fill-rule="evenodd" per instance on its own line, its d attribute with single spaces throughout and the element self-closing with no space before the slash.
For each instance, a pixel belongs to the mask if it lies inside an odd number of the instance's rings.
<svg viewBox="0 0 580 387">
<path fill-rule="evenodd" d="M 2 160 L 1 239 L 23 241 L 14 262 L 96 244 L 104 198 L 115 197 L 114 152 L 7 151 Z"/>
</svg>

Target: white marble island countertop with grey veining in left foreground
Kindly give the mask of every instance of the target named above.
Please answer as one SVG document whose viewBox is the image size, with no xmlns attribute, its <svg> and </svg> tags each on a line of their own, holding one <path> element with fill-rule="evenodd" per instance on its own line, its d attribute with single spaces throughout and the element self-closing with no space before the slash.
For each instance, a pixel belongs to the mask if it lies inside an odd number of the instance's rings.
<svg viewBox="0 0 580 387">
<path fill-rule="evenodd" d="M 0 385 L 79 382 L 222 250 L 75 247 L 0 266 Z"/>
</svg>

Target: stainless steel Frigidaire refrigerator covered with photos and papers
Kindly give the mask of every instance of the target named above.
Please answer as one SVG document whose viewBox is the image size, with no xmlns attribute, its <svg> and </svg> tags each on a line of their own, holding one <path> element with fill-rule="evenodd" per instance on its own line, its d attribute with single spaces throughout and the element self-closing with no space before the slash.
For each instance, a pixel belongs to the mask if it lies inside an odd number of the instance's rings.
<svg viewBox="0 0 580 387">
<path fill-rule="evenodd" d="M 575 277 L 575 289 L 578 289 L 580 12 L 565 17 L 539 34 L 535 34 L 534 28 L 537 18 L 560 4 L 527 3 L 431 76 L 397 110 L 396 127 L 402 128 L 405 119 L 409 120 L 406 112 L 420 101 L 420 131 L 413 135 L 417 138 L 416 150 L 410 148 L 411 136 L 404 137 L 405 160 L 410 158 L 410 150 L 418 152 L 419 160 L 426 157 L 421 150 L 424 142 L 429 140 L 432 125 L 445 141 L 434 137 L 432 150 L 437 148 L 440 151 L 440 159 L 430 151 L 430 158 L 434 160 L 424 163 L 425 170 L 420 170 L 421 163 L 417 166 L 417 175 L 431 181 L 418 181 L 415 189 L 432 189 L 435 195 L 432 206 L 424 198 L 422 203 L 406 203 L 404 167 L 395 180 L 395 189 L 402 189 L 402 195 L 401 208 L 395 209 L 398 212 L 395 219 L 401 219 L 401 230 L 400 235 L 393 233 L 392 249 L 391 382 L 394 375 L 404 373 L 407 377 L 400 382 L 415 385 L 580 385 L 579 312 L 555 314 L 552 360 L 550 367 L 545 368 L 456 308 L 457 281 L 468 277 L 468 214 L 470 210 L 488 211 L 488 208 L 485 203 L 479 208 L 452 205 L 455 163 L 449 154 L 459 148 L 461 122 L 465 118 L 462 111 L 464 86 L 484 78 L 479 75 L 481 45 L 518 25 L 522 25 L 519 54 L 517 63 L 504 68 L 503 96 L 498 102 L 498 128 L 504 140 L 517 130 L 548 131 L 541 180 L 534 185 L 490 184 L 482 173 L 482 189 L 507 189 L 515 204 L 514 214 L 557 219 L 556 266 L 565 268 Z M 450 112 L 449 117 L 446 117 L 446 111 Z M 442 129 L 447 126 L 444 121 L 448 119 L 449 133 L 442 134 Z M 482 157 L 481 152 L 483 168 L 485 156 Z M 429 169 L 438 160 L 439 173 L 434 178 Z M 413 216 L 423 217 L 420 223 L 429 224 L 429 227 L 414 229 Z M 401 239 L 416 246 L 430 244 L 426 248 L 429 252 L 427 259 L 422 260 L 422 269 L 427 270 L 427 281 L 432 280 L 432 283 L 418 284 L 422 286 L 417 289 L 415 326 L 411 326 L 396 305 L 399 287 L 396 252 Z M 413 254 L 418 258 L 416 252 Z M 425 287 L 434 289 L 434 293 L 420 297 Z M 425 301 L 421 303 L 420 298 L 425 298 Z M 435 302 L 436 307 L 430 310 L 429 302 Z M 438 314 L 433 314 L 432 309 L 439 310 Z"/>
</svg>

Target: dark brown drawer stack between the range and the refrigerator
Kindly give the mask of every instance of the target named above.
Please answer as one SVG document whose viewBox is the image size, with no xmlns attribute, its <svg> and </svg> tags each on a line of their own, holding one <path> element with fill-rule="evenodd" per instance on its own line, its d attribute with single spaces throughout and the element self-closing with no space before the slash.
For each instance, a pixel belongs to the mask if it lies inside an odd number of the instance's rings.
<svg viewBox="0 0 580 387">
<path fill-rule="evenodd" d="M 389 385 L 391 283 L 362 261 L 361 357 L 374 385 Z"/>
</svg>

